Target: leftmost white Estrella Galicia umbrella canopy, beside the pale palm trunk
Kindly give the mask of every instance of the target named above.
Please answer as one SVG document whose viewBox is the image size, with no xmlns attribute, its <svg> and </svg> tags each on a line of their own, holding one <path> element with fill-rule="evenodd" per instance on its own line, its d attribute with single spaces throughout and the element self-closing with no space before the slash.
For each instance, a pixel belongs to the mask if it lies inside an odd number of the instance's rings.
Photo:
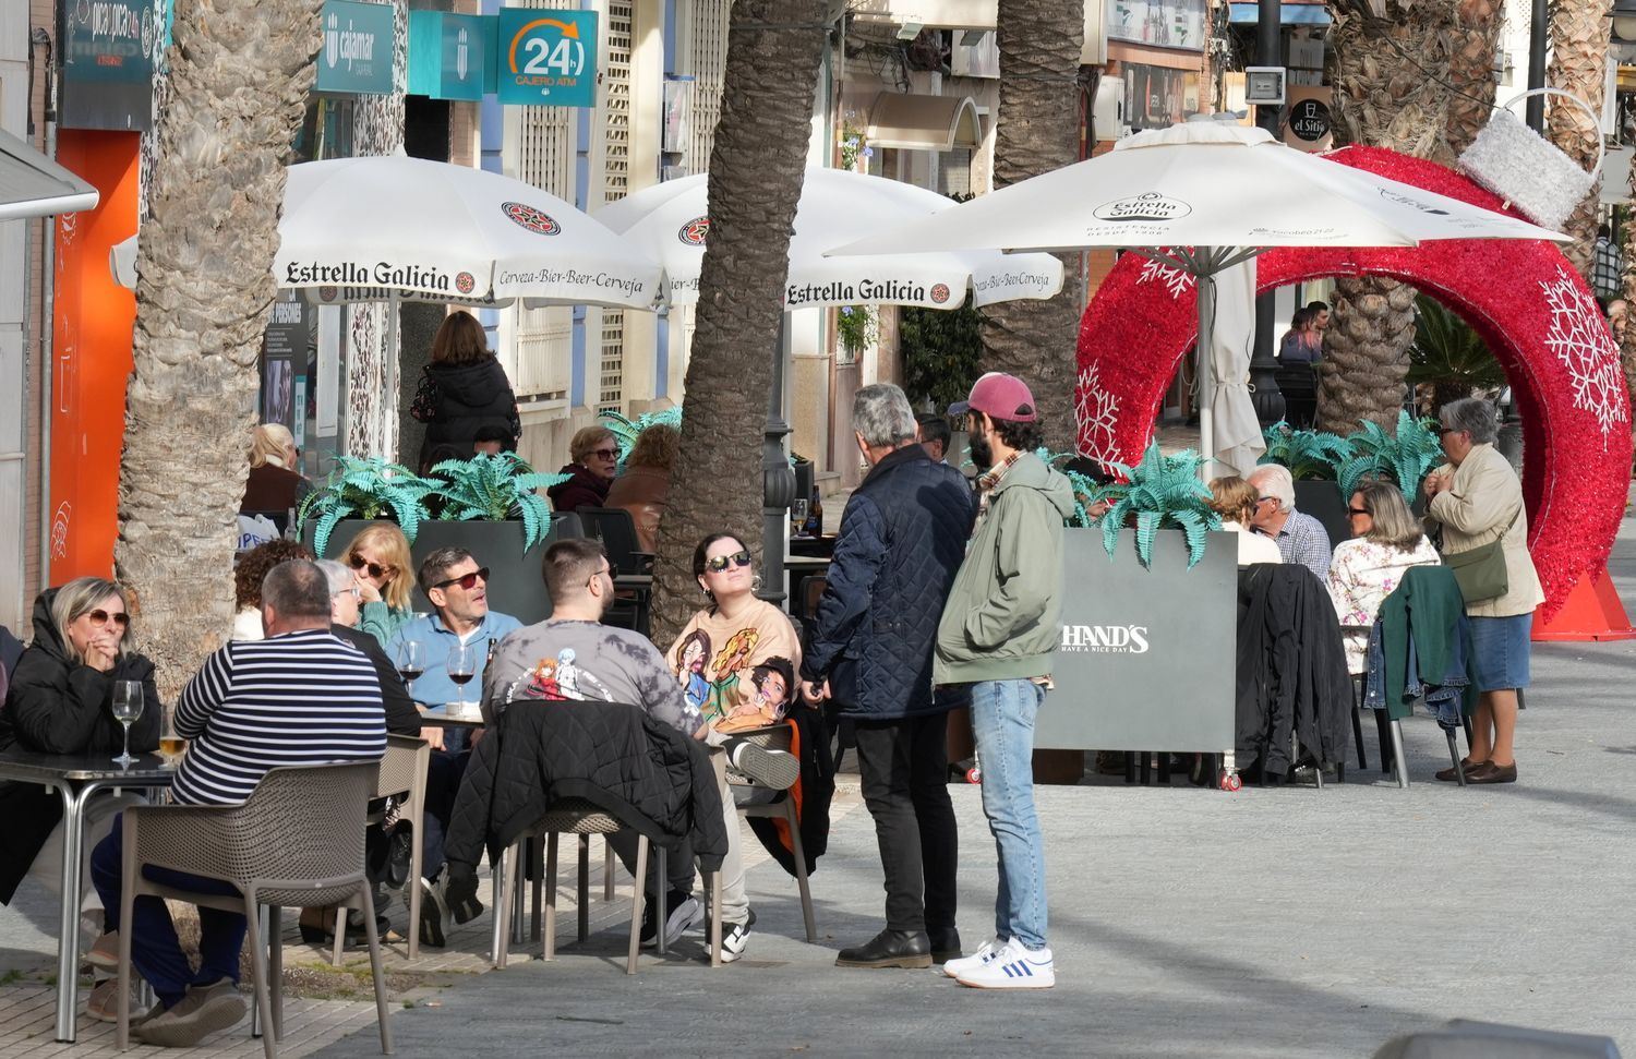
<svg viewBox="0 0 1636 1059">
<path fill-rule="evenodd" d="M 278 286 L 353 288 L 339 301 L 645 309 L 661 282 L 658 262 L 555 195 L 404 155 L 291 165 L 278 236 Z"/>
</svg>

